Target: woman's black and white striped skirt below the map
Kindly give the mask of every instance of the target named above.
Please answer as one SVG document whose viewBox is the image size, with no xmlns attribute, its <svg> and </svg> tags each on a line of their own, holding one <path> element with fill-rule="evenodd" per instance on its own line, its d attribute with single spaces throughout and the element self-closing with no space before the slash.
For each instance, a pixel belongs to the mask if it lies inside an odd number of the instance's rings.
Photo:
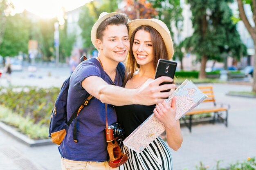
<svg viewBox="0 0 256 170">
<path fill-rule="evenodd" d="M 122 152 L 128 152 L 124 170 L 172 170 L 171 152 L 161 137 L 157 137 L 140 153 L 124 145 Z"/>
</svg>

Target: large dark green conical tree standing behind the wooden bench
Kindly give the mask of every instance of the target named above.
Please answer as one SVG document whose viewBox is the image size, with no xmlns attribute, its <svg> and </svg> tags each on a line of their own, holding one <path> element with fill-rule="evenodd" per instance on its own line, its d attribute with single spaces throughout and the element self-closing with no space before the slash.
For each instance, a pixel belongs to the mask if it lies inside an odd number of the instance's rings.
<svg viewBox="0 0 256 170">
<path fill-rule="evenodd" d="M 245 54 L 236 24 L 231 20 L 232 0 L 188 0 L 192 11 L 194 33 L 186 39 L 186 49 L 191 49 L 201 62 L 199 78 L 206 78 L 207 60 L 223 60 L 231 55 L 239 58 Z"/>
</svg>

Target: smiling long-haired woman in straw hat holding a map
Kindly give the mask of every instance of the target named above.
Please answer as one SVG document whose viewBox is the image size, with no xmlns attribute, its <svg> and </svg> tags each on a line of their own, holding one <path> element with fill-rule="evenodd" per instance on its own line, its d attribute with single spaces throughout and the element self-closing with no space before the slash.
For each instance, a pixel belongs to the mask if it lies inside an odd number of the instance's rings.
<svg viewBox="0 0 256 170">
<path fill-rule="evenodd" d="M 173 43 L 170 31 L 164 22 L 157 19 L 137 19 L 129 24 L 130 51 L 126 60 L 126 88 L 139 88 L 148 79 L 154 79 L 159 58 L 170 60 L 173 57 Z M 136 71 L 136 69 L 138 69 Z M 168 146 L 173 150 L 180 148 L 183 137 L 179 120 L 175 120 L 176 103 L 166 102 L 157 105 L 116 106 L 117 119 L 128 137 L 152 113 L 166 126 Z M 125 170 L 171 170 L 171 153 L 164 141 L 157 137 L 142 152 L 137 153 L 126 146 L 129 152 Z"/>
</svg>

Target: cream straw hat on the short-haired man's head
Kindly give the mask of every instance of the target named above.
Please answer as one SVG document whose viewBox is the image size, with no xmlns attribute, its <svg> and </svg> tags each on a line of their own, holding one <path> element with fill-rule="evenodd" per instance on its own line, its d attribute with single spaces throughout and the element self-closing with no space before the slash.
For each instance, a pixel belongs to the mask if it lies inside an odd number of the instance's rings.
<svg viewBox="0 0 256 170">
<path fill-rule="evenodd" d="M 123 13 L 118 13 L 118 12 L 111 12 L 111 13 L 103 12 L 103 13 L 101 13 L 101 15 L 99 15 L 99 19 L 92 26 L 91 40 L 92 40 L 92 44 L 94 45 L 94 47 L 96 49 L 98 49 L 98 46 L 96 44 L 96 39 L 97 39 L 97 29 L 98 29 L 99 25 L 101 24 L 101 22 L 103 22 L 107 18 L 112 17 L 113 15 L 117 15 L 117 14 L 124 15 Z M 126 15 L 124 15 L 124 16 L 126 16 Z"/>
</svg>

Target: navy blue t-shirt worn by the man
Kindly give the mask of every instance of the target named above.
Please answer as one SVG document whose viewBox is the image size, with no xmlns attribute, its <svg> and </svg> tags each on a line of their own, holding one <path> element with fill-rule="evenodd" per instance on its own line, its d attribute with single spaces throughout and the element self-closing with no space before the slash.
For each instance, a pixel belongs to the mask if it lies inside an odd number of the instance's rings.
<svg viewBox="0 0 256 170">
<path fill-rule="evenodd" d="M 122 67 L 124 70 L 123 64 Z M 120 74 L 123 73 L 119 73 L 117 69 L 114 81 L 117 86 L 122 86 Z M 82 104 L 85 96 L 88 94 L 82 87 L 81 82 L 92 75 L 101 77 L 108 84 L 113 83 L 108 74 L 103 71 L 96 58 L 90 58 L 79 64 L 70 78 L 70 88 L 67 96 L 68 119 L 70 119 L 72 113 Z M 110 125 L 117 122 L 117 115 L 114 108 L 110 108 L 109 105 L 107 106 L 108 124 Z M 105 104 L 99 99 L 93 98 L 90 104 L 81 110 L 76 124 L 78 143 L 73 141 L 74 122 L 71 123 L 65 139 L 59 146 L 61 156 L 74 161 L 108 161 L 105 135 Z"/>
</svg>

